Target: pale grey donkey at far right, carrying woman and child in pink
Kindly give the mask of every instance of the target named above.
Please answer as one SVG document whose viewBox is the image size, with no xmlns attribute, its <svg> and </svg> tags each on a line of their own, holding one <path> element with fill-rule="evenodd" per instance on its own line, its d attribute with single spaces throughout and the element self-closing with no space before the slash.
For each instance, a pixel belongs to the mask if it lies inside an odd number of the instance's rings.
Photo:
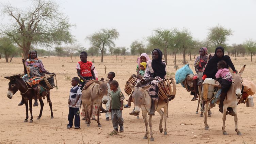
<svg viewBox="0 0 256 144">
<path fill-rule="evenodd" d="M 235 131 L 237 132 L 237 135 L 242 135 L 242 133 L 238 130 L 237 127 L 237 103 L 239 102 L 240 98 L 242 97 L 242 77 L 241 75 L 243 74 L 245 65 L 242 67 L 242 69 L 240 70 L 239 73 L 234 73 L 234 71 L 228 66 L 229 72 L 233 75 L 233 79 L 232 79 L 232 85 L 230 87 L 230 89 L 227 92 L 227 96 L 224 100 L 224 106 L 223 106 L 223 116 L 222 116 L 222 120 L 223 120 L 223 126 L 222 126 L 222 131 L 224 135 L 228 135 L 228 133 L 225 130 L 225 121 L 226 121 L 226 112 L 227 112 L 227 108 L 232 108 L 233 111 L 235 112 L 235 116 L 234 116 L 234 121 L 235 121 Z M 220 101 L 217 101 L 217 104 L 219 105 Z M 206 111 L 210 108 L 210 101 L 207 102 L 207 104 L 205 105 L 205 109 Z M 204 114 L 204 122 L 205 122 L 205 129 L 209 130 L 209 126 L 207 124 L 207 116 L 206 113 Z"/>
</svg>

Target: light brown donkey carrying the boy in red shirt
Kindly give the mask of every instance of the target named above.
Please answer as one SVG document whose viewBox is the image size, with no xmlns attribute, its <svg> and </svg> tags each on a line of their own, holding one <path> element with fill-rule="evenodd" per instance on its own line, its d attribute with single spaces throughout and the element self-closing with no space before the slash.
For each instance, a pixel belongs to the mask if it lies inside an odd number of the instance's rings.
<svg viewBox="0 0 256 144">
<path fill-rule="evenodd" d="M 93 79 L 92 79 L 93 80 Z M 83 105 L 83 110 L 85 112 L 85 123 L 87 126 L 90 126 L 91 123 L 91 116 L 93 112 L 93 105 L 97 104 L 98 109 L 97 109 L 97 123 L 98 127 L 101 127 L 99 123 L 99 111 L 100 111 L 100 106 L 101 102 L 103 104 L 106 104 L 108 102 L 107 99 L 107 94 L 108 94 L 108 79 L 104 81 L 103 78 L 101 78 L 101 81 L 93 80 L 93 84 L 91 84 L 86 90 L 82 90 L 82 105 Z M 87 107 L 90 108 L 90 113 L 87 111 Z"/>
</svg>

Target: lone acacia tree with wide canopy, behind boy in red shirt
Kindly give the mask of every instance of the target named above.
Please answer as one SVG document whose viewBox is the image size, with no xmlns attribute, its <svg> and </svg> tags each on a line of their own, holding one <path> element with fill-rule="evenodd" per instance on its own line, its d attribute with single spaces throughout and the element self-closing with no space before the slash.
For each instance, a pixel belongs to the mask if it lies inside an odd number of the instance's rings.
<svg viewBox="0 0 256 144">
<path fill-rule="evenodd" d="M 101 29 L 99 32 L 93 33 L 86 37 L 91 45 L 97 47 L 101 52 L 101 62 L 103 63 L 104 52 L 107 47 L 114 47 L 114 40 L 117 39 L 119 33 L 116 29 Z"/>
</svg>

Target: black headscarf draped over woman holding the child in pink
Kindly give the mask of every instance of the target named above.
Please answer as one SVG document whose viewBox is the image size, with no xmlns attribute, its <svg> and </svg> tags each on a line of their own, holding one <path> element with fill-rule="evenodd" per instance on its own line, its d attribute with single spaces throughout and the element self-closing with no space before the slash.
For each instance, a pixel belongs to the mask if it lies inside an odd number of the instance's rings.
<svg viewBox="0 0 256 144">
<path fill-rule="evenodd" d="M 216 54 L 216 51 L 218 49 L 221 49 L 222 52 L 223 52 L 223 56 L 221 58 L 218 58 L 217 57 L 217 54 Z M 230 57 L 228 55 L 224 55 L 224 48 L 223 47 L 217 47 L 215 49 L 215 54 L 213 57 L 211 57 L 205 67 L 205 70 L 204 70 L 204 73 L 203 75 L 206 75 L 207 78 L 213 78 L 215 79 L 215 74 L 217 73 L 218 69 L 217 69 L 217 63 L 219 61 L 225 61 L 227 63 L 227 67 L 225 68 L 228 68 L 228 66 L 230 66 L 230 68 L 233 70 L 233 71 L 236 71 L 235 69 L 235 66 L 234 64 L 232 63 Z"/>
</svg>

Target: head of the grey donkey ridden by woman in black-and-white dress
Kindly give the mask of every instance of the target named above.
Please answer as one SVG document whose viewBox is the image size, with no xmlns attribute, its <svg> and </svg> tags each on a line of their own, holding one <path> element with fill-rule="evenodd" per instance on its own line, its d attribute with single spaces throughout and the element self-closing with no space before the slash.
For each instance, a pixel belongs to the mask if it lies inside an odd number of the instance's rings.
<svg viewBox="0 0 256 144">
<path fill-rule="evenodd" d="M 128 84 L 128 86 L 133 90 L 133 94 L 132 94 L 132 100 L 134 103 L 134 113 L 135 114 L 139 114 L 140 112 L 140 108 L 142 105 L 145 105 L 146 102 L 146 95 L 145 95 L 145 91 L 151 86 L 151 85 L 147 85 L 144 87 L 139 87 L 139 86 L 133 86 L 130 82 L 126 82 Z"/>
</svg>

